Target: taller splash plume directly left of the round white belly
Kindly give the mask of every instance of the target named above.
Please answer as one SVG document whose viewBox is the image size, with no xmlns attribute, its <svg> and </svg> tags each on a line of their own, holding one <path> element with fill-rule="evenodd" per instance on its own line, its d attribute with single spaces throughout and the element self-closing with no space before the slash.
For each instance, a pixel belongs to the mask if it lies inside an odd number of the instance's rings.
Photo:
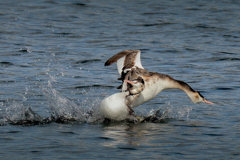
<svg viewBox="0 0 240 160">
<path fill-rule="evenodd" d="M 103 121 L 103 117 L 99 113 L 101 102 L 99 98 L 88 100 L 87 97 L 78 105 L 52 88 L 51 82 L 54 80 L 54 78 L 49 80 L 48 87 L 43 89 L 43 93 L 56 121 L 65 122 L 70 120 L 80 123 L 99 123 Z"/>
</svg>

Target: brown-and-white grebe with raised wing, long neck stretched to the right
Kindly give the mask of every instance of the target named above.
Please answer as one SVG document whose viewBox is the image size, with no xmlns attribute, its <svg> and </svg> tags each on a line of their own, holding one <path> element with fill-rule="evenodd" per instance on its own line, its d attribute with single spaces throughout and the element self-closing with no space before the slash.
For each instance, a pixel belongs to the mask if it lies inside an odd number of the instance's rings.
<svg viewBox="0 0 240 160">
<path fill-rule="evenodd" d="M 139 50 L 125 50 L 112 56 L 105 63 L 105 66 L 108 66 L 117 62 L 118 71 L 121 76 L 119 80 L 122 80 L 122 85 L 118 88 L 121 88 L 122 92 L 130 91 L 131 87 L 129 87 L 126 81 L 134 81 L 139 77 L 143 80 L 143 90 L 138 95 L 126 97 L 128 106 L 136 107 L 147 102 L 165 89 L 183 90 L 193 103 L 205 102 L 213 104 L 207 101 L 199 92 L 193 90 L 187 83 L 175 80 L 169 75 L 145 70 L 141 65 L 140 53 Z M 121 59 L 124 56 L 125 58 Z"/>
</svg>

